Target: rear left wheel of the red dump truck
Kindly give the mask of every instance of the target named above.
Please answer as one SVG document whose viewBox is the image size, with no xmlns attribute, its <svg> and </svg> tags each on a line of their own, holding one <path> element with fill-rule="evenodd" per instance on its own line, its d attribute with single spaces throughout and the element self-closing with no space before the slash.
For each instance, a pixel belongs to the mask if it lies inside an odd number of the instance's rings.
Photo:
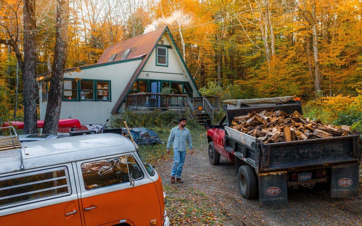
<svg viewBox="0 0 362 226">
<path fill-rule="evenodd" d="M 249 165 L 240 166 L 237 172 L 237 183 L 244 198 L 252 199 L 256 195 L 256 178 L 253 168 Z"/>
</svg>

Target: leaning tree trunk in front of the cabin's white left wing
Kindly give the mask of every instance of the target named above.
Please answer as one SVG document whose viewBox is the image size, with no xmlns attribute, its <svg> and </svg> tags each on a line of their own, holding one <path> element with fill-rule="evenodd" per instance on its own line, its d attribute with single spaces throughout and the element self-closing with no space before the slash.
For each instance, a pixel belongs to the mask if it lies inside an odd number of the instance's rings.
<svg viewBox="0 0 362 226">
<path fill-rule="evenodd" d="M 43 132 L 56 135 L 63 97 L 63 75 L 68 47 L 69 0 L 58 0 L 56 7 L 55 52 L 50 78 L 49 99 Z"/>
</svg>

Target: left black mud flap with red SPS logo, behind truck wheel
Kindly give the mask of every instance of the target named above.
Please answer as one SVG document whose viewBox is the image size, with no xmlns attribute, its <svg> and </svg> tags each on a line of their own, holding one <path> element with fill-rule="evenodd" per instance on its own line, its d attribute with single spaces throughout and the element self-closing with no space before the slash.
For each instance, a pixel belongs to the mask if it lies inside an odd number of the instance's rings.
<svg viewBox="0 0 362 226">
<path fill-rule="evenodd" d="M 287 202 L 287 174 L 260 174 L 259 206 L 285 206 Z"/>
</svg>

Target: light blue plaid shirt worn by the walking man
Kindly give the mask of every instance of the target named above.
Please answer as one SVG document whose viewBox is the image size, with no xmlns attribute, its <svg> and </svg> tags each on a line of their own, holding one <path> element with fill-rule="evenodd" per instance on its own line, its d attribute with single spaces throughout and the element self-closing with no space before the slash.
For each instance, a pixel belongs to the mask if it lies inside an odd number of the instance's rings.
<svg viewBox="0 0 362 226">
<path fill-rule="evenodd" d="M 173 143 L 173 148 L 177 148 L 179 152 L 185 152 L 186 141 L 189 143 L 189 148 L 193 149 L 190 131 L 185 127 L 182 130 L 178 126 L 174 127 L 171 129 L 171 134 L 167 141 L 167 149 L 170 149 Z"/>
</svg>

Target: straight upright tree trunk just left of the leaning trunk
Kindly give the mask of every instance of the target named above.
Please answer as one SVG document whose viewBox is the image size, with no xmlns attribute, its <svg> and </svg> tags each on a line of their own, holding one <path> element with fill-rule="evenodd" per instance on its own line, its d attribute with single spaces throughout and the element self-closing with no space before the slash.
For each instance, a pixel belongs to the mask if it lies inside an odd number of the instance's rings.
<svg viewBox="0 0 362 226">
<path fill-rule="evenodd" d="M 38 84 L 36 81 L 35 0 L 24 0 L 24 134 L 37 132 Z"/>
</svg>

